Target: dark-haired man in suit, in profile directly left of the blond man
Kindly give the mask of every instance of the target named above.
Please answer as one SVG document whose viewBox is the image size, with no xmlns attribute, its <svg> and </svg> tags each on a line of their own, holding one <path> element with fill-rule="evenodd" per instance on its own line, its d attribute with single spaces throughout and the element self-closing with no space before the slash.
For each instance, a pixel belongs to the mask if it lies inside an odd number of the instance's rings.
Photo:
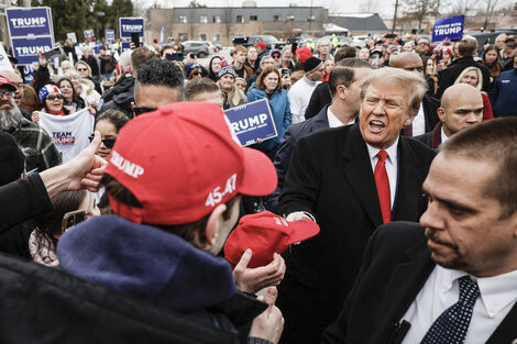
<svg viewBox="0 0 517 344">
<path fill-rule="evenodd" d="M 308 134 L 329 127 L 353 124 L 359 114 L 360 91 L 364 80 L 370 75 L 372 68 L 358 62 L 359 58 L 344 59 L 330 73 L 329 82 L 332 104 L 327 104 L 320 110 L 318 115 L 293 124 L 282 137 L 275 157 L 275 167 L 278 175 L 278 186 L 275 192 L 267 198 L 266 208 L 276 212 L 278 208 L 278 197 L 284 186 L 285 175 L 289 167 L 290 156 L 299 138 Z"/>
</svg>

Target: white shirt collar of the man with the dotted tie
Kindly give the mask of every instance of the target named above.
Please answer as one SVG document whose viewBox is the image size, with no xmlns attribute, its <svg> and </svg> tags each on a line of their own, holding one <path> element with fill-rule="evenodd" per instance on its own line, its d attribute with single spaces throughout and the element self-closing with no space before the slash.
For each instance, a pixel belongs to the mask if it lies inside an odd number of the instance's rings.
<svg viewBox="0 0 517 344">
<path fill-rule="evenodd" d="M 443 291 L 451 290 L 454 280 L 469 274 L 460 270 L 447 269 L 439 265 L 437 268 L 443 274 Z M 477 278 L 471 276 L 477 281 L 480 288 L 481 301 L 485 307 L 488 317 L 494 318 L 498 312 L 517 300 L 517 270 L 506 273 L 494 277 Z"/>
</svg>

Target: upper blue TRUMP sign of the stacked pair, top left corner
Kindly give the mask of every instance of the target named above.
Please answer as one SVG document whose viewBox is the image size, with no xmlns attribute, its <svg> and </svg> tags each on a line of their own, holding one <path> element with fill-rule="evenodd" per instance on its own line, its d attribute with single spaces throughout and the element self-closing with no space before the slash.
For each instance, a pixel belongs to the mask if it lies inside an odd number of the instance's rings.
<svg viewBox="0 0 517 344">
<path fill-rule="evenodd" d="M 47 8 L 6 9 L 11 36 L 53 35 L 52 15 Z"/>
</svg>

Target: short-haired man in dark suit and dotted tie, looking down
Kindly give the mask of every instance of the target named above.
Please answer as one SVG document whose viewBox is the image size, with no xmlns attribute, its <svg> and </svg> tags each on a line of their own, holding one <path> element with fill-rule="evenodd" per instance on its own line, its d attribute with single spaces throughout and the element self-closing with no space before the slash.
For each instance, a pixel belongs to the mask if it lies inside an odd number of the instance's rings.
<svg viewBox="0 0 517 344">
<path fill-rule="evenodd" d="M 393 222 L 376 231 L 323 343 L 513 343 L 516 136 L 517 119 L 508 118 L 442 145 L 424 184 L 421 226 Z"/>
</svg>

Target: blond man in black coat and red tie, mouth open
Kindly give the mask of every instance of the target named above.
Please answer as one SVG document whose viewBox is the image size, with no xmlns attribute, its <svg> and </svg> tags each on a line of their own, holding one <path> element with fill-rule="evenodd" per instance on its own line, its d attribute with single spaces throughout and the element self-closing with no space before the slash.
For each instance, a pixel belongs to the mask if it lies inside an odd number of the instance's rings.
<svg viewBox="0 0 517 344">
<path fill-rule="evenodd" d="M 290 247 L 279 303 L 285 343 L 317 343 L 352 289 L 374 230 L 393 220 L 416 221 L 435 152 L 399 136 L 426 93 L 422 76 L 396 68 L 371 73 L 361 90 L 360 123 L 298 141 L 279 212 L 315 218 L 320 234 Z M 387 156 L 386 156 L 387 155 Z"/>
</svg>

